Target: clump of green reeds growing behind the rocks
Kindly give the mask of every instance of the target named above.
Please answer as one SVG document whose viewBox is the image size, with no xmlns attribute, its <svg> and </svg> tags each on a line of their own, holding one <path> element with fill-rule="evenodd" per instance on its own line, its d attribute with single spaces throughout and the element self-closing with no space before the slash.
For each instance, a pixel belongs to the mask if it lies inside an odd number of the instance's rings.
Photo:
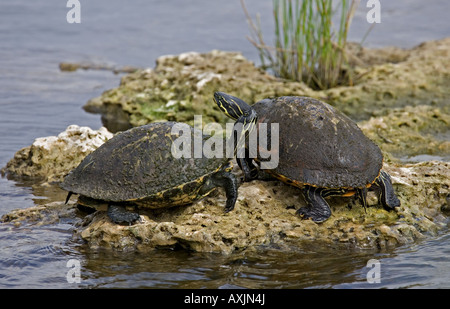
<svg viewBox="0 0 450 309">
<path fill-rule="evenodd" d="M 351 70 L 345 57 L 347 33 L 359 3 L 356 0 L 273 0 L 275 46 L 265 44 L 260 27 L 244 13 L 251 30 L 249 40 L 258 49 L 264 68 L 276 76 L 303 81 L 314 89 L 351 84 Z M 332 17 L 339 14 L 339 25 Z"/>
</svg>

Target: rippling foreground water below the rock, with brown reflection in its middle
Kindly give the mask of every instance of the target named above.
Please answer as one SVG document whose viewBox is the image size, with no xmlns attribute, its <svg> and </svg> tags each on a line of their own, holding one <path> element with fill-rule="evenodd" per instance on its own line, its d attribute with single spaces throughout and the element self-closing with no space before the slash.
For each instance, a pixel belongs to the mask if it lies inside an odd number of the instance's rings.
<svg viewBox="0 0 450 309">
<path fill-rule="evenodd" d="M 59 191 L 59 192 L 58 192 Z M 35 194 L 61 199 L 53 186 Z M 0 286 L 32 288 L 398 288 L 448 287 L 450 235 L 397 250 L 350 250 L 305 243 L 291 251 L 261 247 L 229 256 L 182 249 L 118 252 L 91 249 L 72 237 L 82 216 L 51 224 L 0 224 Z M 68 283 L 66 263 L 81 263 L 81 282 Z M 367 261 L 381 264 L 381 283 L 367 282 Z"/>
</svg>

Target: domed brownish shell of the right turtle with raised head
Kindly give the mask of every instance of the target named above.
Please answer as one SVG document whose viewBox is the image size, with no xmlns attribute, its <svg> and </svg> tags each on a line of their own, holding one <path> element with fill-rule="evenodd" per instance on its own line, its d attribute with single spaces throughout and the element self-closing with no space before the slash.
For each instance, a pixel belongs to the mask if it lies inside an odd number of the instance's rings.
<svg viewBox="0 0 450 309">
<path fill-rule="evenodd" d="M 308 97 L 279 97 L 257 102 L 253 108 L 258 123 L 279 123 L 279 164 L 269 171 L 279 179 L 298 186 L 363 188 L 378 177 L 381 150 L 329 104 Z"/>
</svg>

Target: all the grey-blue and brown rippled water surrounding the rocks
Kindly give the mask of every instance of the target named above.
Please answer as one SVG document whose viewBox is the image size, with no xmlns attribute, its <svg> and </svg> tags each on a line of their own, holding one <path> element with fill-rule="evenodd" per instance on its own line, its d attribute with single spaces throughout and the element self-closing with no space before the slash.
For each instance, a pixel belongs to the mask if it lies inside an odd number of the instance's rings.
<svg viewBox="0 0 450 309">
<path fill-rule="evenodd" d="M 153 67 L 164 54 L 212 49 L 239 50 L 258 62 L 239 1 L 81 0 L 81 24 L 66 22 L 66 1 L 3 0 L 0 3 L 0 166 L 35 138 L 57 135 L 71 124 L 93 129 L 100 117 L 81 107 L 118 85 L 105 71 L 63 73 L 59 62 Z M 369 28 L 365 2 L 350 38 Z M 271 1 L 246 1 L 260 12 L 271 41 Z M 382 1 L 382 23 L 366 46 L 412 47 L 449 36 L 446 0 Z M 420 20 L 420 22 L 418 22 Z M 0 178 L 0 215 L 55 200 L 57 188 Z M 380 288 L 450 287 L 449 234 L 393 252 L 347 252 L 304 248 L 266 249 L 220 256 L 178 250 L 111 253 L 72 240 L 76 218 L 21 227 L 0 225 L 0 287 L 4 288 Z M 369 259 L 381 265 L 381 283 L 369 284 Z M 81 282 L 68 283 L 67 262 L 81 263 Z"/>
</svg>

